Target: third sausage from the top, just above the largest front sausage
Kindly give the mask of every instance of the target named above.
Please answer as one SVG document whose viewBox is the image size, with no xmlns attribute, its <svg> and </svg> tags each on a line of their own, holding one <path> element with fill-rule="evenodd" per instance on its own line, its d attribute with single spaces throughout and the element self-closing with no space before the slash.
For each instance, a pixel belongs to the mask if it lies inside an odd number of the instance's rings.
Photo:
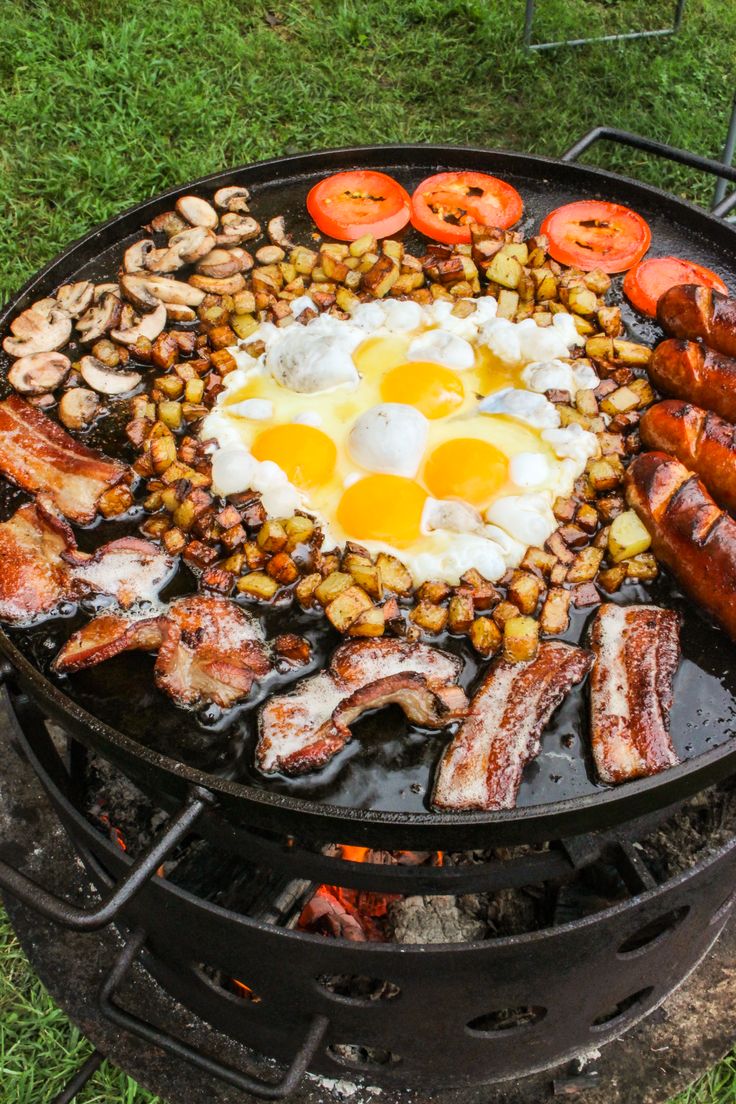
<svg viewBox="0 0 736 1104">
<path fill-rule="evenodd" d="M 714 499 L 736 513 L 736 425 L 679 399 L 655 403 L 639 423 L 647 448 L 672 453 L 696 471 Z"/>
</svg>

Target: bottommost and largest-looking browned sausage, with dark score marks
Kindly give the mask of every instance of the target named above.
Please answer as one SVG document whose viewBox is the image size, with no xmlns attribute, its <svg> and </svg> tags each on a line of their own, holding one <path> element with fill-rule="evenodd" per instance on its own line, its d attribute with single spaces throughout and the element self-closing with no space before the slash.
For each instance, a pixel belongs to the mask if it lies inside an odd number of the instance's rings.
<svg viewBox="0 0 736 1104">
<path fill-rule="evenodd" d="M 683 591 L 736 640 L 736 521 L 697 476 L 664 453 L 642 453 L 627 471 L 627 500 L 659 560 Z"/>
</svg>

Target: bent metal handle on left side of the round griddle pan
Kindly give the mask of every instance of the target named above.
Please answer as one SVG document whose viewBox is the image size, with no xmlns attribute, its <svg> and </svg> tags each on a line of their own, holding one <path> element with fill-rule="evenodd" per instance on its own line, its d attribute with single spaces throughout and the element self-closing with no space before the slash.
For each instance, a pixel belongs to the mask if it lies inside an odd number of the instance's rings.
<svg viewBox="0 0 736 1104">
<path fill-rule="evenodd" d="M 12 893 L 22 904 L 73 932 L 95 932 L 105 927 L 120 910 L 153 877 L 167 856 L 191 831 L 195 821 L 212 803 L 211 795 L 199 789 L 171 818 L 166 831 L 130 867 L 113 892 L 95 909 L 78 909 L 55 896 L 32 878 L 0 861 L 0 890 Z"/>
</svg>

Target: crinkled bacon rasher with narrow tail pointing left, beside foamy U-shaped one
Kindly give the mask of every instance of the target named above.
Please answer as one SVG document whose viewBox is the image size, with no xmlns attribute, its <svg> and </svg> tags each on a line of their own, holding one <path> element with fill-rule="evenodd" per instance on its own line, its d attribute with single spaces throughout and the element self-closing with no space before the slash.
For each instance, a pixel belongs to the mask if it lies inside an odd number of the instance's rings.
<svg viewBox="0 0 736 1104">
<path fill-rule="evenodd" d="M 227 598 L 179 598 L 157 617 L 95 617 L 72 636 L 54 669 L 94 667 L 121 651 L 158 651 L 159 689 L 178 705 L 214 703 L 227 709 L 246 698 L 271 668 L 258 622 Z"/>
</svg>

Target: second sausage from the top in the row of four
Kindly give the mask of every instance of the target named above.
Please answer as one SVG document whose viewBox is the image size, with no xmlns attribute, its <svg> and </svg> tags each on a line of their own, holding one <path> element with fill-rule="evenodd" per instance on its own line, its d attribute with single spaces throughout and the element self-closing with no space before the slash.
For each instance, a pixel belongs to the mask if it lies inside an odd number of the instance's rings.
<svg viewBox="0 0 736 1104">
<path fill-rule="evenodd" d="M 654 386 L 673 399 L 686 399 L 736 422 L 736 360 L 695 341 L 670 338 L 658 344 L 649 362 Z"/>
</svg>

